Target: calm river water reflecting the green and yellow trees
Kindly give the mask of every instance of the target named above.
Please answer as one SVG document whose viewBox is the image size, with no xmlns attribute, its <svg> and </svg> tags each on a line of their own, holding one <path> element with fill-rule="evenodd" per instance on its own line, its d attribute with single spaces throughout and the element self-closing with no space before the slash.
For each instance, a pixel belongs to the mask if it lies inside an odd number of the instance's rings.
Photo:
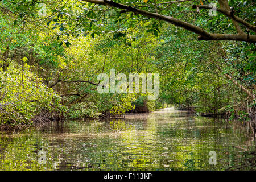
<svg viewBox="0 0 256 182">
<path fill-rule="evenodd" d="M 0 170 L 249 170 L 246 127 L 165 109 L 106 121 L 65 121 L 1 132 Z M 216 165 L 209 152 L 216 152 Z"/>
</svg>

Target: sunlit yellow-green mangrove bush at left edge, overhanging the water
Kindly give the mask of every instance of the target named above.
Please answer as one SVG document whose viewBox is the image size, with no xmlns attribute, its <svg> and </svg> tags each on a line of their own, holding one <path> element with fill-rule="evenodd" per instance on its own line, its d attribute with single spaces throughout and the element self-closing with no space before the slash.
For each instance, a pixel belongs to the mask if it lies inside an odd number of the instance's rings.
<svg viewBox="0 0 256 182">
<path fill-rule="evenodd" d="M 44 85 L 29 65 L 17 65 L 13 60 L 8 64 L 6 71 L 0 72 L 1 124 L 30 124 L 42 110 L 61 111 L 60 96 Z"/>
</svg>

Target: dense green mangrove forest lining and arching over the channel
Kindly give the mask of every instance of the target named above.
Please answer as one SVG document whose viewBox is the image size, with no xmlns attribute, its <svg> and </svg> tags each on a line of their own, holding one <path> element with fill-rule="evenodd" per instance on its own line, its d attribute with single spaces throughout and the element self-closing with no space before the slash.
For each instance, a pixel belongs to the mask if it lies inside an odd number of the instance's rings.
<svg viewBox="0 0 256 182">
<path fill-rule="evenodd" d="M 0 123 L 123 117 L 168 104 L 255 123 L 255 19 L 253 0 L 3 0 Z M 158 73 L 158 98 L 99 93 L 97 76 L 111 69 Z"/>
</svg>

